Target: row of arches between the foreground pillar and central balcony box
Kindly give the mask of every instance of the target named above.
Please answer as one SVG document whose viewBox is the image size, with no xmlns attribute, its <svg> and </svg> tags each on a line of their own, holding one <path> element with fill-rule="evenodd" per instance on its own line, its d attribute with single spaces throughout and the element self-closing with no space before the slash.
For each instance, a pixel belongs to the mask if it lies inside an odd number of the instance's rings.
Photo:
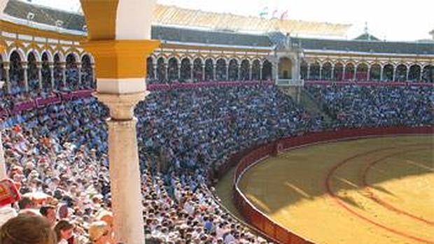
<svg viewBox="0 0 434 244">
<path fill-rule="evenodd" d="M 259 58 L 151 56 L 146 64 L 151 83 L 272 79 L 272 63 Z"/>
</svg>

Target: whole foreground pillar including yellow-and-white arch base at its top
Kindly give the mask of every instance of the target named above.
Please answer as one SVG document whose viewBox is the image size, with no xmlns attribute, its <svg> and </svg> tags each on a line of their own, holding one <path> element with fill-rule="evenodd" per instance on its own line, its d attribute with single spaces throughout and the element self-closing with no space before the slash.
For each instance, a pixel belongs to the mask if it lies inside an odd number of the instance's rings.
<svg viewBox="0 0 434 244">
<path fill-rule="evenodd" d="M 146 58 L 155 0 L 80 0 L 95 58 L 96 96 L 110 109 L 109 162 L 116 243 L 143 244 L 143 196 L 134 106 L 146 97 Z M 140 27 L 140 28 L 139 28 Z"/>
</svg>

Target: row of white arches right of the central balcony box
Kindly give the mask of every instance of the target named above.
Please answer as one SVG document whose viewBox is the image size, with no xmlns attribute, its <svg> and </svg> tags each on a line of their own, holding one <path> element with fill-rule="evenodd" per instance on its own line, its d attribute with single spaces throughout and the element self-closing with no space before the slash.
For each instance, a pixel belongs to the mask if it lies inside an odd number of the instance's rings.
<svg viewBox="0 0 434 244">
<path fill-rule="evenodd" d="M 300 76 L 304 80 L 434 82 L 434 65 L 303 60 Z"/>
</svg>

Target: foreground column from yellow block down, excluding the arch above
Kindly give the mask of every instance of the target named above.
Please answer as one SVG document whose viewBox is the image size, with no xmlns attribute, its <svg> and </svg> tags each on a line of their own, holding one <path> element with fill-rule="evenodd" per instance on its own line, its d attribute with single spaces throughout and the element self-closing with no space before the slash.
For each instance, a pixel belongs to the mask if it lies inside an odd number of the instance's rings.
<svg viewBox="0 0 434 244">
<path fill-rule="evenodd" d="M 110 109 L 109 162 L 116 242 L 144 244 L 143 196 L 134 106 L 146 96 L 146 59 L 159 41 L 90 41 L 97 93 Z"/>
</svg>

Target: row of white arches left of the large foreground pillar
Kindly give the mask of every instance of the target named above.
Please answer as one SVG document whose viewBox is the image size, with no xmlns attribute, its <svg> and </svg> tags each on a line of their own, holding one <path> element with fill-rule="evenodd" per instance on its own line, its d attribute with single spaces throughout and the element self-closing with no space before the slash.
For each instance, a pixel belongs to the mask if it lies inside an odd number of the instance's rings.
<svg viewBox="0 0 434 244">
<path fill-rule="evenodd" d="M 94 89 L 94 58 L 87 52 L 13 48 L 0 56 L 0 80 L 8 94 Z"/>
</svg>

